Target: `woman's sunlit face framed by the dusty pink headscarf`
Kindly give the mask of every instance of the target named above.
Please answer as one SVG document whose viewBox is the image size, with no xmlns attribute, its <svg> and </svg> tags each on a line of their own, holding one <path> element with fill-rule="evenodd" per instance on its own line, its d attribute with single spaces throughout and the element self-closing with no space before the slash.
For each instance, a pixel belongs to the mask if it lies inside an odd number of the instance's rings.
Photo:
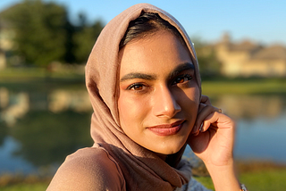
<svg viewBox="0 0 286 191">
<path fill-rule="evenodd" d="M 160 30 L 120 51 L 118 109 L 125 134 L 159 155 L 177 153 L 195 123 L 199 88 L 187 47 Z"/>
</svg>

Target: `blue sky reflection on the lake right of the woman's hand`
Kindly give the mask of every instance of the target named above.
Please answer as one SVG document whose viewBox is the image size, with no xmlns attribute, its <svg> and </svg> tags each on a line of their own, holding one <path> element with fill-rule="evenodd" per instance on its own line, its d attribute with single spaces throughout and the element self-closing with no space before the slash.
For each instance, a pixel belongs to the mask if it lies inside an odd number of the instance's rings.
<svg viewBox="0 0 286 191">
<path fill-rule="evenodd" d="M 240 159 L 263 159 L 286 163 L 286 112 L 267 119 L 239 120 L 235 155 Z"/>
</svg>

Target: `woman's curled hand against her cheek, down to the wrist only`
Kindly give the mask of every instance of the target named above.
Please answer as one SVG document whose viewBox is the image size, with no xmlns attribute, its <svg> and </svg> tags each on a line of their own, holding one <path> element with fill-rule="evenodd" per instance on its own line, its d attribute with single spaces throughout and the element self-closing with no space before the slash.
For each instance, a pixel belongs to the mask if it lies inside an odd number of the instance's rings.
<svg viewBox="0 0 286 191">
<path fill-rule="evenodd" d="M 233 120 L 214 107 L 206 95 L 202 95 L 188 144 L 206 164 L 227 165 L 233 161 L 234 128 Z"/>
</svg>

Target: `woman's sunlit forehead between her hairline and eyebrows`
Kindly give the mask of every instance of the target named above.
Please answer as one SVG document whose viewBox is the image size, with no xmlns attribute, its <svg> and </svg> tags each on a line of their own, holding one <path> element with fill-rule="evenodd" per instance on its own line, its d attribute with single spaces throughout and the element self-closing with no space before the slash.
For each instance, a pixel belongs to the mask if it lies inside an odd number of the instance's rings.
<svg viewBox="0 0 286 191">
<path fill-rule="evenodd" d="M 160 72 L 191 62 L 189 49 L 172 33 L 160 30 L 153 35 L 130 41 L 120 51 L 120 73 Z"/>
</svg>

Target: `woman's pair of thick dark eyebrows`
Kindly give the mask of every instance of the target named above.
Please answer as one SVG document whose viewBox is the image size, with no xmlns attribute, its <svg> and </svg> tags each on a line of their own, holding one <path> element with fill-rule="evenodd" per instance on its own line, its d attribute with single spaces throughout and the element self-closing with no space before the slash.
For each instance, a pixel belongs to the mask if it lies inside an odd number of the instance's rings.
<svg viewBox="0 0 286 191">
<path fill-rule="evenodd" d="M 195 66 L 190 62 L 181 63 L 179 66 L 177 66 L 168 76 L 168 79 L 172 79 L 175 76 L 177 76 L 182 71 L 195 71 Z M 156 80 L 156 75 L 153 74 L 145 74 L 140 72 L 131 72 L 129 74 L 126 74 L 125 76 L 120 79 L 120 81 L 125 81 L 128 79 L 146 79 L 146 80 Z"/>
</svg>

